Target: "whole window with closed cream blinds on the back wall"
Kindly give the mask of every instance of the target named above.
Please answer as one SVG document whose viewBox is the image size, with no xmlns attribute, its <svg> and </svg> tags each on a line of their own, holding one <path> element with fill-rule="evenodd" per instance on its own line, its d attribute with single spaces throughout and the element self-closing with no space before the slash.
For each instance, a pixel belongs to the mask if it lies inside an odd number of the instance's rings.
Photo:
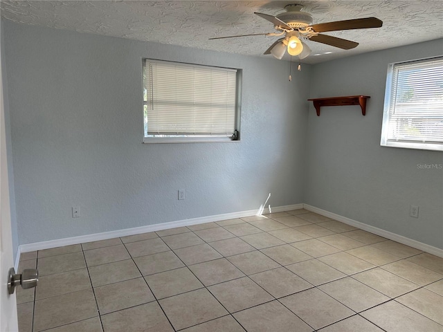
<svg viewBox="0 0 443 332">
<path fill-rule="evenodd" d="M 239 139 L 241 71 L 143 60 L 144 142 Z"/>
</svg>

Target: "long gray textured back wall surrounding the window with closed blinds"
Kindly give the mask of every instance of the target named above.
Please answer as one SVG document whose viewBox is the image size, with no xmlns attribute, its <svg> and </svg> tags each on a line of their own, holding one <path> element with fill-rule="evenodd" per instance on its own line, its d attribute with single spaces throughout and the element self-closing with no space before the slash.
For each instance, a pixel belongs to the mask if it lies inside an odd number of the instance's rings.
<svg viewBox="0 0 443 332">
<path fill-rule="evenodd" d="M 9 21 L 4 37 L 19 243 L 302 203 L 310 66 L 288 82 L 274 59 Z M 142 57 L 242 68 L 241 142 L 142 144 Z"/>
</svg>

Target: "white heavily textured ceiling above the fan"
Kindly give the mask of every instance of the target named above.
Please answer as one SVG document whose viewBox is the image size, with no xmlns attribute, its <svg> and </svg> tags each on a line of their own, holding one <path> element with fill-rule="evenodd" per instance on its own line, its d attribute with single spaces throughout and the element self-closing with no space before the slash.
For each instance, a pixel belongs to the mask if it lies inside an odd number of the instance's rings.
<svg viewBox="0 0 443 332">
<path fill-rule="evenodd" d="M 277 15 L 289 3 L 300 3 L 314 17 L 314 24 L 362 17 L 377 17 L 381 28 L 325 33 L 359 42 L 341 50 L 313 41 L 304 63 L 336 59 L 359 53 L 415 44 L 443 37 L 443 1 L 4 1 L 1 15 L 21 24 L 32 24 L 95 33 L 112 37 L 262 55 L 279 37 L 210 37 L 275 32 L 273 25 L 254 15 Z M 442 41 L 439 41 L 442 43 Z M 325 54 L 329 53 L 329 54 Z M 442 44 L 443 53 L 443 44 Z M 289 59 L 286 55 L 284 59 Z"/>
</svg>

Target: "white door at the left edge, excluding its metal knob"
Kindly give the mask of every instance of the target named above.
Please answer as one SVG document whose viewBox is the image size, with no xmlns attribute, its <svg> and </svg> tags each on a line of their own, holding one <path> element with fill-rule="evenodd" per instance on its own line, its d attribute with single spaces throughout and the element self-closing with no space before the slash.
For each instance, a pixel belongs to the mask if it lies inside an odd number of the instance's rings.
<svg viewBox="0 0 443 332">
<path fill-rule="evenodd" d="M 8 293 L 8 270 L 12 259 L 12 233 L 9 205 L 8 163 L 6 160 L 5 109 L 0 53 L 0 332 L 18 331 L 15 293 Z"/>
</svg>

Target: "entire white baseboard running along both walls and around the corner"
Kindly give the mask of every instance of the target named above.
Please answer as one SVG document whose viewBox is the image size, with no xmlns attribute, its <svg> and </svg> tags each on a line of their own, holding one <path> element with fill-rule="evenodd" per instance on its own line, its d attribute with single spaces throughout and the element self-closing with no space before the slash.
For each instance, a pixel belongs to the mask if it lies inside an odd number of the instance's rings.
<svg viewBox="0 0 443 332">
<path fill-rule="evenodd" d="M 429 252 L 430 254 L 438 256 L 438 257 L 443 257 L 443 249 L 429 246 L 426 243 L 415 241 L 413 239 L 408 239 L 407 237 L 402 237 L 401 235 L 398 235 L 398 234 L 395 234 L 392 232 L 388 232 L 387 230 L 382 230 L 381 228 L 367 225 L 365 223 L 361 223 L 359 221 L 355 221 L 355 220 L 349 219 L 345 216 L 340 216 L 338 214 L 334 214 L 332 212 L 322 210 L 322 209 L 316 208 L 316 207 L 308 205 L 308 204 L 300 203 L 300 204 L 293 204 L 293 205 L 278 206 L 275 208 L 271 208 L 271 212 L 273 212 L 273 213 L 274 212 L 284 212 L 284 211 L 298 210 L 298 209 L 302 209 L 302 208 L 305 208 L 305 210 L 309 210 L 309 211 L 315 212 L 317 214 L 321 214 L 323 216 L 327 216 L 328 218 L 331 218 L 331 219 L 334 219 L 337 221 L 341 221 L 342 223 L 346 223 L 347 225 L 352 225 L 356 228 L 360 228 L 361 230 L 365 230 L 367 232 L 377 234 L 381 237 L 386 237 L 386 239 L 390 239 L 392 241 L 397 241 L 399 243 L 406 244 L 406 246 L 417 248 L 417 249 L 422 250 L 424 252 Z M 200 223 L 210 223 L 210 222 L 221 221 L 221 220 L 226 220 L 226 219 L 242 218 L 244 216 L 256 215 L 256 214 L 258 214 L 259 211 L 262 211 L 262 214 L 266 214 L 266 213 L 269 213 L 269 208 L 260 209 L 258 211 L 257 210 L 248 210 L 248 211 L 241 211 L 241 212 L 231 212 L 231 213 L 226 213 L 226 214 L 216 214 L 213 216 L 203 216 L 203 217 L 199 217 L 199 218 L 171 221 L 168 223 L 157 223 L 155 225 L 146 225 L 146 226 L 141 226 L 141 227 L 136 227 L 136 228 L 127 228 L 124 230 L 113 230 L 111 232 L 102 232 L 102 233 L 96 233 L 96 234 L 81 235 L 79 237 L 69 237 L 69 238 L 57 239 L 57 240 L 51 240 L 51 241 L 42 241 L 42 242 L 21 244 L 17 250 L 17 257 L 15 260 L 15 269 L 16 270 L 18 269 L 19 257 L 20 257 L 21 252 L 44 250 L 44 249 L 50 249 L 50 248 L 55 248 L 55 247 L 60 247 L 60 246 L 69 246 L 71 244 L 113 239 L 114 237 L 126 237 L 128 235 L 141 234 L 141 233 L 145 233 L 145 232 L 155 232 L 158 230 L 168 230 L 170 228 L 176 228 L 176 227 L 198 225 Z"/>
</svg>

